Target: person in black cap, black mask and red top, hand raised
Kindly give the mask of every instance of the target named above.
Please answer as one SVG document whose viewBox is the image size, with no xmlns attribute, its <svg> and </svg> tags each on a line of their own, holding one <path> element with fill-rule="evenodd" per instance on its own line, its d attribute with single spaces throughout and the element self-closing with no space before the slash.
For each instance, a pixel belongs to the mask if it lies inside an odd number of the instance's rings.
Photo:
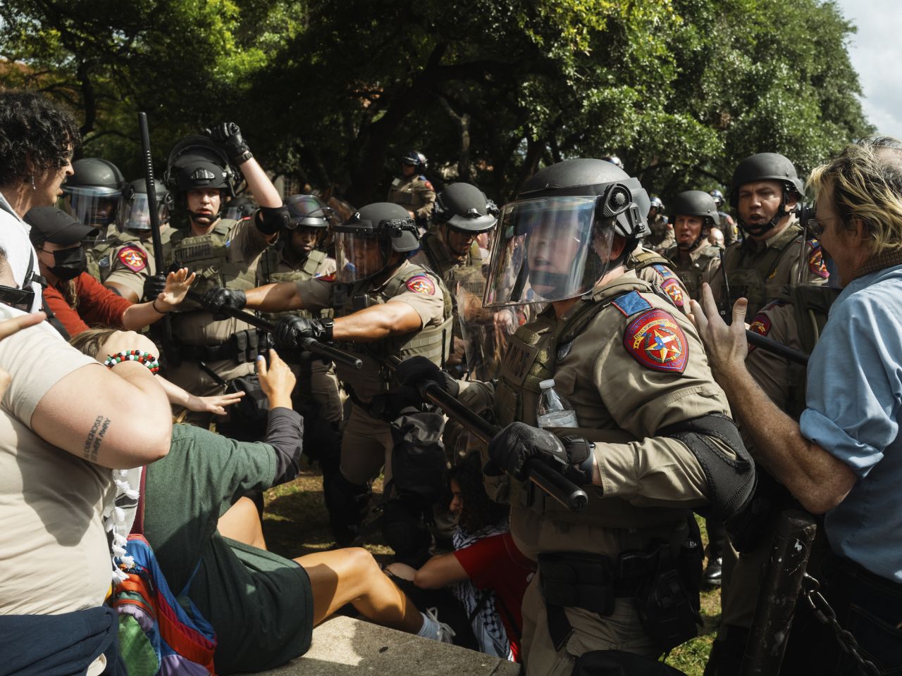
<svg viewBox="0 0 902 676">
<path fill-rule="evenodd" d="M 170 272 L 158 297 L 133 304 L 85 271 L 81 242 L 96 229 L 54 206 L 33 208 L 25 215 L 25 223 L 32 226 L 29 236 L 38 252 L 41 276 L 47 280 L 43 297 L 48 320 L 67 340 L 92 324 L 135 330 L 158 322 L 184 300 L 194 281 L 188 269 Z"/>
</svg>

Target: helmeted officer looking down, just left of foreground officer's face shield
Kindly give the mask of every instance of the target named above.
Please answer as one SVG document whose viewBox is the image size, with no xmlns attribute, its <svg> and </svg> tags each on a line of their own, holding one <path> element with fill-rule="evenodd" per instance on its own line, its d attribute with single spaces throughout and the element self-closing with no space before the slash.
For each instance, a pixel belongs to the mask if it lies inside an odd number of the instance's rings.
<svg viewBox="0 0 902 676">
<path fill-rule="evenodd" d="M 492 230 L 497 221 L 498 207 L 482 190 L 469 183 L 452 183 L 438 194 L 432 210 L 435 228 L 423 235 L 419 252 L 411 259 L 437 272 L 454 300 L 455 344 L 447 360 L 450 367 L 461 366 L 465 357 L 460 306 L 468 308 L 464 319 L 473 320 L 471 324 L 478 324 L 479 320 L 492 322 L 494 314 L 482 309 L 483 255 L 476 237 Z M 476 347 L 469 343 L 468 346 Z"/>
</svg>

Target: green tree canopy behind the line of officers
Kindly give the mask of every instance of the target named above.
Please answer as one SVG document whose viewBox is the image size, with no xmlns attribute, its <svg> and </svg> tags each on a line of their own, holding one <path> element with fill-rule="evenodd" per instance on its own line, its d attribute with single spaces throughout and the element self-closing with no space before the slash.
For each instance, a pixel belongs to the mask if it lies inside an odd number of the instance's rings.
<svg viewBox="0 0 902 676">
<path fill-rule="evenodd" d="M 833 2 L 7 0 L 0 55 L 82 115 L 84 152 L 137 170 L 241 124 L 267 169 L 355 204 L 400 154 L 499 201 L 543 164 L 616 153 L 649 191 L 724 187 L 752 152 L 810 169 L 870 132 Z"/>
</svg>

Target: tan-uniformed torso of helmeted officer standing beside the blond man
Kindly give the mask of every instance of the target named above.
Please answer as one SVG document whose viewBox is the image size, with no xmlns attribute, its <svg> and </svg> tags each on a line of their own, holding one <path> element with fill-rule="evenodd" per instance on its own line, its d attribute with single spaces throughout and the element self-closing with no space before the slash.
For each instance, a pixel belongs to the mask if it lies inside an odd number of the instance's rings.
<svg viewBox="0 0 902 676">
<path fill-rule="evenodd" d="M 738 298 L 749 299 L 746 316 L 754 316 L 768 300 L 777 298 L 784 286 L 796 286 L 799 269 L 803 284 L 823 284 L 827 277 L 823 251 L 816 240 L 805 242 L 802 249 L 802 230 L 792 216 L 787 226 L 765 242 L 750 237 L 744 242 L 733 242 L 723 251 L 723 266 L 713 270 L 705 279 L 711 285 L 714 300 L 721 309 L 732 309 Z M 730 287 L 727 297 L 724 275 Z M 725 307 L 724 307 L 725 306 Z"/>
</svg>

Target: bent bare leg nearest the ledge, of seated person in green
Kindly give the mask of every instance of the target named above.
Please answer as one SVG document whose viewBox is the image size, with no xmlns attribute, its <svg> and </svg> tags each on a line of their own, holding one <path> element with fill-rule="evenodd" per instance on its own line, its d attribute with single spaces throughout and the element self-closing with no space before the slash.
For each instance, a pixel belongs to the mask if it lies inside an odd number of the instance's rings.
<svg viewBox="0 0 902 676">
<path fill-rule="evenodd" d="M 367 619 L 416 634 L 423 618 L 410 598 L 398 589 L 360 547 L 318 552 L 295 559 L 310 576 L 313 624 L 351 603 Z"/>
</svg>

